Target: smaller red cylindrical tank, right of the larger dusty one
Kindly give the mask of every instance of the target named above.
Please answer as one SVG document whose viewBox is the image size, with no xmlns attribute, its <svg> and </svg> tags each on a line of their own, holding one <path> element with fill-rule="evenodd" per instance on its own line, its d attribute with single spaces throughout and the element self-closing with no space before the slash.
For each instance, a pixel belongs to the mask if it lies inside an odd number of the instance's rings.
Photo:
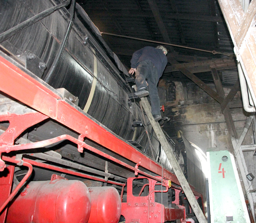
<svg viewBox="0 0 256 223">
<path fill-rule="evenodd" d="M 121 199 L 114 187 L 88 187 L 91 196 L 91 213 L 88 223 L 118 223 Z"/>
</svg>

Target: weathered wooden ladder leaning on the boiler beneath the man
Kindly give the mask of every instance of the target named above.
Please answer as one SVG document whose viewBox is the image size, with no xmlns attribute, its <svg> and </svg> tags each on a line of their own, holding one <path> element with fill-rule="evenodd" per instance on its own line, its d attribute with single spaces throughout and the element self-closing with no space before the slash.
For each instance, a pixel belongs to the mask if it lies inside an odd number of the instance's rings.
<svg viewBox="0 0 256 223">
<path fill-rule="evenodd" d="M 157 135 L 159 142 L 161 143 L 161 145 L 163 147 L 163 151 L 165 152 L 165 154 L 174 170 L 174 173 L 180 183 L 180 186 L 182 187 L 182 189 L 189 201 L 189 204 L 193 208 L 195 216 L 197 217 L 199 223 L 207 223 L 205 215 L 203 214 L 197 200 L 195 199 L 195 195 L 193 194 L 193 192 L 189 186 L 189 183 L 187 182 L 177 160 L 175 159 L 174 154 L 172 153 L 172 151 L 170 149 L 169 143 L 167 142 L 167 139 L 166 139 L 165 135 L 163 134 L 163 131 L 162 131 L 159 123 L 155 122 L 155 120 L 151 114 L 150 104 L 145 97 L 141 98 L 141 104 L 147 114 L 147 117 L 152 125 L 152 128 L 154 129 L 154 131 Z"/>
</svg>

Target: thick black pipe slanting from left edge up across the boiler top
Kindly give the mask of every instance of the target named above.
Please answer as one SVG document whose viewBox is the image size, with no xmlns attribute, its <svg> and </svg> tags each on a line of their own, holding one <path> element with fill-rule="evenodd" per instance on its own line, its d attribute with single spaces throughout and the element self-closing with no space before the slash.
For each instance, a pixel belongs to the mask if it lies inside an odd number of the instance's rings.
<svg viewBox="0 0 256 223">
<path fill-rule="evenodd" d="M 3 32 L 2 34 L 0 34 L 0 43 L 5 41 L 6 39 L 10 38 L 11 36 L 13 36 L 14 34 L 20 32 L 21 30 L 31 26 L 32 24 L 38 22 L 39 20 L 47 17 L 48 15 L 50 15 L 51 13 L 55 12 L 56 10 L 67 6 L 70 3 L 70 0 L 65 1 L 64 3 L 61 3 L 57 6 L 54 6 L 52 8 L 49 8 L 43 12 L 40 12 L 39 14 L 31 17 L 30 19 L 27 19 L 26 21 L 19 23 L 19 25 L 14 26 L 13 28 L 10 28 L 9 30 Z"/>
</svg>

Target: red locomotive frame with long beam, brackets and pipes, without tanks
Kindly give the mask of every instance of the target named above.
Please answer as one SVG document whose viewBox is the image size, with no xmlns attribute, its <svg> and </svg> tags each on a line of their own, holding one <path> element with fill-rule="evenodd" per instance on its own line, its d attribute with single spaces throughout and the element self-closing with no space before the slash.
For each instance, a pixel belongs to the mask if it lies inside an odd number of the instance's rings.
<svg viewBox="0 0 256 223">
<path fill-rule="evenodd" d="M 26 71 L 27 72 L 27 71 Z M 154 190 L 154 185 L 157 182 L 163 182 L 163 186 L 166 186 L 166 191 L 168 191 L 168 185 L 166 182 L 171 180 L 173 183 L 179 185 L 177 177 L 171 173 L 170 171 L 162 168 L 159 164 L 154 162 L 152 159 L 148 158 L 147 156 L 143 155 L 139 151 L 137 151 L 134 147 L 130 146 L 129 144 L 125 143 L 120 137 L 111 133 L 110 130 L 107 130 L 102 125 L 97 123 L 97 121 L 93 120 L 89 115 L 84 113 L 79 108 L 75 108 L 72 106 L 67 100 L 62 99 L 58 93 L 52 88 L 51 86 L 45 84 L 41 79 L 33 76 L 33 74 L 28 74 L 24 71 L 24 68 L 13 61 L 10 57 L 6 56 L 5 54 L 1 53 L 0 55 L 0 91 L 4 94 L 12 97 L 26 106 L 29 106 L 36 110 L 33 113 L 26 113 L 24 115 L 18 114 L 8 114 L 8 115 L 0 115 L 0 122 L 1 121 L 8 121 L 10 125 L 8 129 L 0 136 L 0 169 L 1 171 L 5 171 L 8 169 L 8 175 L 5 177 L 0 178 L 0 189 L 1 189 L 1 198 L 0 198 L 0 205 L 1 210 L 5 210 L 0 215 L 0 222 L 5 222 L 6 217 L 6 204 L 13 198 L 15 195 L 15 191 L 17 191 L 24 181 L 29 177 L 31 173 L 32 166 L 42 166 L 44 168 L 57 170 L 63 173 L 74 174 L 80 177 L 85 177 L 88 179 L 93 179 L 97 181 L 105 182 L 104 178 L 100 177 L 92 177 L 90 175 L 86 175 L 83 173 L 67 170 L 65 168 L 59 168 L 56 166 L 52 166 L 49 164 L 43 164 L 40 162 L 36 162 L 34 160 L 19 159 L 19 157 L 8 157 L 6 154 L 10 151 L 17 151 L 17 150 L 26 150 L 31 148 L 40 148 L 46 145 L 53 144 L 55 142 L 59 142 L 64 139 L 68 139 L 78 145 L 78 151 L 82 152 L 83 149 L 88 149 L 93 151 L 100 156 L 106 157 L 126 168 L 129 168 L 135 172 L 137 175 L 138 173 L 144 175 L 150 182 L 150 190 L 148 197 L 134 197 L 132 196 L 132 180 L 133 178 L 128 178 L 127 180 L 127 202 L 122 203 L 122 213 L 123 215 L 133 215 L 130 222 L 138 222 L 136 219 L 146 219 L 146 222 L 165 222 L 167 220 L 175 220 L 181 219 L 182 222 L 186 221 L 186 212 L 184 207 L 179 206 L 179 209 L 171 209 L 165 208 L 163 205 L 154 201 L 154 193 L 159 192 Z M 45 103 L 47 102 L 47 103 Z M 41 142 L 29 143 L 29 144 L 22 144 L 22 145 L 14 145 L 14 140 L 27 128 L 45 120 L 47 118 L 51 118 L 56 120 L 57 122 L 67 126 L 77 133 L 80 134 L 79 138 L 76 139 L 70 135 L 61 135 L 59 137 L 55 137 L 53 139 L 44 140 Z M 83 142 L 84 138 L 88 138 L 97 144 L 108 148 L 109 150 L 118 153 L 119 155 L 131 160 L 132 162 L 136 163 L 136 166 L 130 166 L 110 155 L 103 153 L 92 146 L 87 145 Z M 19 165 L 28 166 L 30 171 L 24 177 L 24 179 L 20 182 L 20 185 L 17 186 L 15 191 L 10 195 L 12 181 L 13 181 L 13 174 L 14 174 L 14 166 L 8 166 L 6 168 L 5 162 L 16 163 Z M 155 177 L 148 173 L 145 173 L 139 170 L 139 166 L 142 166 L 153 173 L 163 176 L 162 177 Z M 145 178 L 144 177 L 144 178 Z M 143 178 L 143 177 L 142 177 Z M 125 184 L 110 181 L 108 183 L 116 184 L 122 186 L 124 189 Z M 160 184 L 161 185 L 161 184 Z M 176 187 L 175 188 L 177 196 L 176 200 L 173 202 L 179 205 L 179 196 L 178 193 L 182 191 L 182 188 Z M 192 188 L 194 195 L 198 198 L 202 195 Z M 163 191 L 165 192 L 165 191 Z M 123 190 L 121 193 L 121 200 L 122 200 Z M 145 201 L 143 201 L 143 199 Z M 129 202 L 128 202 L 129 200 Z M 134 205 L 131 205 L 131 201 Z M 129 205 L 130 204 L 130 205 Z M 137 205 L 136 205 L 137 204 Z M 143 204 L 145 204 L 143 206 Z M 145 208 L 145 207 L 148 207 Z M 146 210 L 147 209 L 147 210 Z M 163 211 L 160 211 L 163 210 Z M 146 212 L 145 212 L 146 211 Z M 153 211 L 153 213 L 152 213 Z M 160 213 L 159 213 L 160 211 Z M 162 212 L 164 213 L 162 215 Z M 128 214 L 127 214 L 128 213 Z M 162 215 L 162 217 L 159 217 Z M 127 219 L 128 220 L 128 219 Z M 160 221 L 159 221 L 160 220 Z M 140 221 L 139 221 L 140 222 Z"/>
</svg>

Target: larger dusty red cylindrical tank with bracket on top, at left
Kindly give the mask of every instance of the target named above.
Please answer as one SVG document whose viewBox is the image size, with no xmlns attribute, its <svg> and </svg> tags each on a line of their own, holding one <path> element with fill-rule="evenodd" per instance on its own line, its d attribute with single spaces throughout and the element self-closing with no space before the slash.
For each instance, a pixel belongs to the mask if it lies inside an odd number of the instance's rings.
<svg viewBox="0 0 256 223">
<path fill-rule="evenodd" d="M 10 205 L 6 223 L 86 223 L 91 201 L 86 185 L 52 175 L 51 181 L 30 182 Z"/>
</svg>

